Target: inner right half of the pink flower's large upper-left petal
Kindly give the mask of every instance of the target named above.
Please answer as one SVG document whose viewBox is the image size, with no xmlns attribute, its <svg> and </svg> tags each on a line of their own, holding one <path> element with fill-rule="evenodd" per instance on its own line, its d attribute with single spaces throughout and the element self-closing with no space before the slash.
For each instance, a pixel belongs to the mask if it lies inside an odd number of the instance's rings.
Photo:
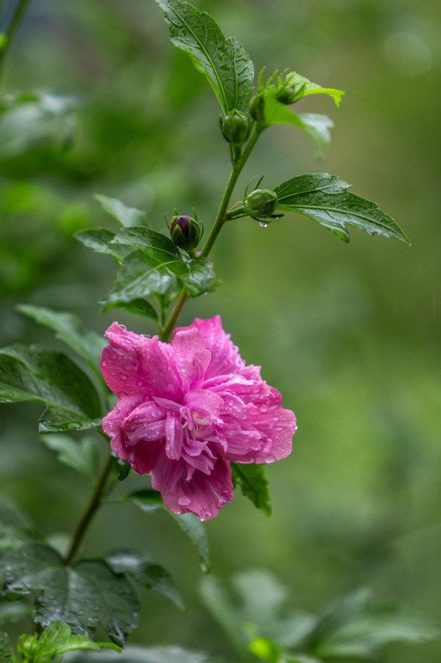
<svg viewBox="0 0 441 663">
<path fill-rule="evenodd" d="M 181 380 L 169 355 L 159 344 L 158 337 L 139 337 L 138 352 L 140 362 L 155 396 L 172 401 L 181 401 L 183 392 Z"/>
</svg>

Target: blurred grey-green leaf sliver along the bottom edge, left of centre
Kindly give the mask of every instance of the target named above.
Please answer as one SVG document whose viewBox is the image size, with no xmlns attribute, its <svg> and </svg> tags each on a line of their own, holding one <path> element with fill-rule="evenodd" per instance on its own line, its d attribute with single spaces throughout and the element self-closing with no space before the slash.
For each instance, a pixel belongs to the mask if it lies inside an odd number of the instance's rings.
<svg viewBox="0 0 441 663">
<path fill-rule="evenodd" d="M 94 663 L 97 656 L 81 653 L 69 657 L 69 663 Z M 101 663 L 213 663 L 213 656 L 182 647 L 126 647 L 122 654 L 102 652 Z"/>
</svg>

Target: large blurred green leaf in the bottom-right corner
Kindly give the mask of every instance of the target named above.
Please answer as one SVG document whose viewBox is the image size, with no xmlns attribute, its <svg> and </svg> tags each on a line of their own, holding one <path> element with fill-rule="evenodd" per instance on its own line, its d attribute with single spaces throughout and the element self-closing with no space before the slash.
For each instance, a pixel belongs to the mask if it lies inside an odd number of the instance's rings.
<svg viewBox="0 0 441 663">
<path fill-rule="evenodd" d="M 359 590 L 336 602 L 308 638 L 319 657 L 373 658 L 392 642 L 425 643 L 441 639 L 441 623 L 397 604 L 375 606 L 372 593 Z"/>
</svg>

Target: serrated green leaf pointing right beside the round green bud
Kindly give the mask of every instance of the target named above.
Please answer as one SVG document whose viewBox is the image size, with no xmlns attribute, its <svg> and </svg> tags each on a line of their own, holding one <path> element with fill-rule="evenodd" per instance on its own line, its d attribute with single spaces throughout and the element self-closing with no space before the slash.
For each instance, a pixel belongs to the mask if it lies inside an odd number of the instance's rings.
<svg viewBox="0 0 441 663">
<path fill-rule="evenodd" d="M 372 235 L 381 234 L 410 244 L 391 216 L 374 202 L 349 193 L 350 186 L 328 173 L 293 177 L 274 189 L 278 195 L 277 209 L 309 216 L 344 241 L 349 241 L 347 226 L 351 225 Z"/>
</svg>

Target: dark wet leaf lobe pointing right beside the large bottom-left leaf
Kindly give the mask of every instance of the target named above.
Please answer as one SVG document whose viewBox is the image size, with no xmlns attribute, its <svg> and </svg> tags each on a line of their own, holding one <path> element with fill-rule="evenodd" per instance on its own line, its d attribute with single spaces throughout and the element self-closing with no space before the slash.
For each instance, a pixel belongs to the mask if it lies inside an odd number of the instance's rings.
<svg viewBox="0 0 441 663">
<path fill-rule="evenodd" d="M 126 573 L 133 578 L 137 586 L 142 584 L 147 589 L 157 591 L 172 600 L 178 608 L 184 609 L 172 576 L 163 566 L 150 564 L 142 553 L 119 550 L 106 555 L 106 562 L 115 573 Z"/>
</svg>

